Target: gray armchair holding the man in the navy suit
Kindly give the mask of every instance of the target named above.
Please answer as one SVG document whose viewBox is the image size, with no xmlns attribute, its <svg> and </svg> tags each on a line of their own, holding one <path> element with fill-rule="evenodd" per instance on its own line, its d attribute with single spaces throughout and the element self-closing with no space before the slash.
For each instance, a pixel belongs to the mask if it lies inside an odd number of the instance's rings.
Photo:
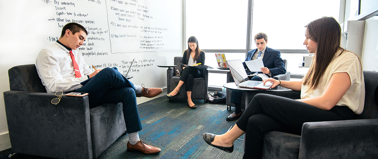
<svg viewBox="0 0 378 159">
<path fill-rule="evenodd" d="M 282 59 L 283 64 L 285 66 L 285 69 L 287 69 L 287 60 Z M 285 74 L 280 74 L 273 77 L 277 80 L 283 80 L 283 81 L 290 81 L 290 72 L 286 72 Z M 234 82 L 234 79 L 232 78 L 231 72 L 227 72 L 227 83 Z M 288 90 L 286 88 L 283 88 L 281 86 L 274 87 L 273 90 Z M 231 93 L 232 90 L 226 90 L 227 96 L 226 96 L 226 105 L 227 109 L 231 109 L 231 107 L 235 107 L 235 104 L 231 102 Z M 249 94 L 249 93 L 248 93 Z M 240 106 L 242 109 L 245 109 L 246 105 L 249 104 L 249 102 L 252 100 L 254 95 L 246 95 L 246 93 L 242 93 L 242 102 L 240 103 Z"/>
</svg>

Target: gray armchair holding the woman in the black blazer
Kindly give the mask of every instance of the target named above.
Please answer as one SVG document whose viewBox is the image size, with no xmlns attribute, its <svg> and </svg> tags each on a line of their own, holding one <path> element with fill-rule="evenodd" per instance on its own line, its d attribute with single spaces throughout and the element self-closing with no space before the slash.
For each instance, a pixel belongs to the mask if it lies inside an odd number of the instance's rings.
<svg viewBox="0 0 378 159">
<path fill-rule="evenodd" d="M 181 68 L 181 61 L 183 57 L 175 57 L 174 58 L 174 65 L 176 67 L 168 68 L 167 69 L 167 94 L 172 92 L 175 87 L 178 85 L 178 81 L 180 81 L 179 76 L 175 76 L 175 70 L 178 69 L 180 72 L 183 71 Z M 204 99 L 204 102 L 208 101 L 208 79 L 209 79 L 209 71 L 203 70 L 203 77 L 202 78 L 194 78 L 193 80 L 193 91 L 192 91 L 192 99 Z M 185 86 L 181 87 L 179 90 L 180 94 L 170 98 L 169 102 L 172 102 L 175 99 L 187 99 L 186 89 Z"/>
</svg>

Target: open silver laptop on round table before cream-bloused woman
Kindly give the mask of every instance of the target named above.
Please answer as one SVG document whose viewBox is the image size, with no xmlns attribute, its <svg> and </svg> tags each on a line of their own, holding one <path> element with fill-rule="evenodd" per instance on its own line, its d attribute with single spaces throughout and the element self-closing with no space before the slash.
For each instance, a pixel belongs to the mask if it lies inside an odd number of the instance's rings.
<svg viewBox="0 0 378 159">
<path fill-rule="evenodd" d="M 227 64 L 230 68 L 232 78 L 234 78 L 235 84 L 238 87 L 266 90 L 270 89 L 272 86 L 272 83 L 270 82 L 265 83 L 264 86 L 262 81 L 250 81 L 247 73 L 245 72 L 242 60 L 227 60 Z"/>
</svg>

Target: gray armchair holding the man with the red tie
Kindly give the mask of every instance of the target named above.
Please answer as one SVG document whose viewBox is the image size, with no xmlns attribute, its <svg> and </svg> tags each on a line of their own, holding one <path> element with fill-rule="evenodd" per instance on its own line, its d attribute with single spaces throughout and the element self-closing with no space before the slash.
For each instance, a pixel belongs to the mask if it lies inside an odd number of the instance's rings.
<svg viewBox="0 0 378 159">
<path fill-rule="evenodd" d="M 4 92 L 4 102 L 13 152 L 93 159 L 125 133 L 122 103 L 89 109 L 88 96 L 63 94 L 54 105 L 57 96 L 46 93 L 34 64 L 8 73 L 11 90 Z"/>
</svg>

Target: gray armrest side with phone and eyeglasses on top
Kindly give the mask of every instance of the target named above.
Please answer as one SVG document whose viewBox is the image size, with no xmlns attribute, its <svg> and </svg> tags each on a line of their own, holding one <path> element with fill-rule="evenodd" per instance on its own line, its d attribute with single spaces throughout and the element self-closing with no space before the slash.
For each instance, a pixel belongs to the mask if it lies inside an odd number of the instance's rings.
<svg viewBox="0 0 378 159">
<path fill-rule="evenodd" d="M 57 98 L 54 93 L 3 94 L 14 152 L 53 158 L 93 158 L 88 96 L 62 95 L 55 105 L 51 103 Z"/>
</svg>

